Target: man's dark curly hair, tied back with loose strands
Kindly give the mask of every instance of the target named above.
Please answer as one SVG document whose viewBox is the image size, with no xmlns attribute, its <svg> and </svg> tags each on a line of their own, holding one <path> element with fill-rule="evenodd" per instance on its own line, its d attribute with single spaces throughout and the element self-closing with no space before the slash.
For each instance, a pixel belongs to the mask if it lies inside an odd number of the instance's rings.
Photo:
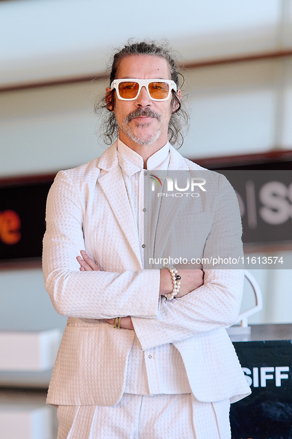
<svg viewBox="0 0 292 439">
<path fill-rule="evenodd" d="M 165 58 L 169 64 L 170 77 L 172 81 L 175 82 L 177 90 L 180 88 L 179 76 L 182 77 L 184 83 L 183 76 L 178 72 L 178 66 L 176 63 L 177 56 L 173 54 L 172 48 L 166 41 L 157 43 L 153 40 L 139 42 L 130 39 L 123 49 L 120 49 L 111 57 L 110 84 L 116 79 L 117 71 L 122 59 L 130 55 L 150 55 Z M 101 134 L 100 137 L 103 138 L 106 145 L 111 145 L 118 138 L 119 132 L 115 113 L 108 108 L 106 98 L 108 101 L 113 102 L 114 107 L 115 89 L 106 95 L 106 97 L 95 102 L 94 112 L 99 116 L 101 115 L 101 130 L 103 131 L 103 134 Z M 184 104 L 177 97 L 174 90 L 172 90 L 171 106 L 176 108 L 176 110 L 173 111 L 170 116 L 168 124 L 168 141 L 171 145 L 178 144 L 178 147 L 180 147 L 183 144 L 184 129 L 185 131 L 188 130 L 189 115 Z"/>
</svg>

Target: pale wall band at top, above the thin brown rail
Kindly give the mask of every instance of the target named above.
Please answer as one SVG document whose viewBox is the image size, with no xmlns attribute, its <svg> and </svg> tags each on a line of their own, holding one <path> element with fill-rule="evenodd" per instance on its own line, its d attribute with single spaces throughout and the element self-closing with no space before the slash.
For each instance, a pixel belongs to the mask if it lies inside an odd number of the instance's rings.
<svg viewBox="0 0 292 439">
<path fill-rule="evenodd" d="M 0 82 L 98 72 L 130 37 L 166 37 L 185 59 L 290 45 L 282 9 L 281 0 L 1 1 Z"/>
</svg>

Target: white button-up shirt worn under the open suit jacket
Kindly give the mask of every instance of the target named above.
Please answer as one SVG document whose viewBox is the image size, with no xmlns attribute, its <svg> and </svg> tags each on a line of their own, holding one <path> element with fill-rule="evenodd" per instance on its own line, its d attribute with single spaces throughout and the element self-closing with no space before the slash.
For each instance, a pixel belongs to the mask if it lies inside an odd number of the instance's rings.
<svg viewBox="0 0 292 439">
<path fill-rule="evenodd" d="M 153 171 L 167 170 L 169 157 L 169 144 L 167 142 L 165 146 L 149 157 L 147 169 Z M 137 224 L 137 236 L 143 261 L 144 162 L 141 155 L 120 140 L 118 140 L 118 159 L 123 172 L 134 222 Z M 143 300 L 143 296 L 141 300 Z M 150 395 L 190 392 L 191 389 L 181 355 L 173 344 L 163 344 L 152 349 L 146 349 L 143 352 L 138 339 L 135 337 L 128 357 L 125 393 Z"/>
</svg>

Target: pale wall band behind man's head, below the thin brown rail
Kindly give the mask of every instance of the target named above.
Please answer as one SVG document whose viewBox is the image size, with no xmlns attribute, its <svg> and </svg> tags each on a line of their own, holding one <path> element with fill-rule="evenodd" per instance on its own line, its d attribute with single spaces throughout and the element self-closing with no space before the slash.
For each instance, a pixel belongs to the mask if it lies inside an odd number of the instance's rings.
<svg viewBox="0 0 292 439">
<path fill-rule="evenodd" d="M 291 59 L 190 68 L 183 74 L 191 115 L 183 155 L 292 148 Z M 107 85 L 98 80 L 0 93 L 0 174 L 56 171 L 99 156 L 105 146 L 95 134 L 93 102 Z"/>
</svg>

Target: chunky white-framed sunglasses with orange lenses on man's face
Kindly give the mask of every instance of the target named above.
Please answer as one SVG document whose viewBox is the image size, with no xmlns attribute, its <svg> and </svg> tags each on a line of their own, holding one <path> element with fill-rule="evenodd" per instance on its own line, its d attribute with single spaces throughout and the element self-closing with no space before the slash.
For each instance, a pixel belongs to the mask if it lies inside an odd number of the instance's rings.
<svg viewBox="0 0 292 439">
<path fill-rule="evenodd" d="M 111 83 L 111 90 L 116 89 L 117 96 L 121 100 L 135 100 L 138 98 L 141 88 L 145 87 L 148 96 L 152 100 L 167 100 L 171 91 L 177 91 L 174 81 L 168 79 L 115 79 Z"/>
</svg>

